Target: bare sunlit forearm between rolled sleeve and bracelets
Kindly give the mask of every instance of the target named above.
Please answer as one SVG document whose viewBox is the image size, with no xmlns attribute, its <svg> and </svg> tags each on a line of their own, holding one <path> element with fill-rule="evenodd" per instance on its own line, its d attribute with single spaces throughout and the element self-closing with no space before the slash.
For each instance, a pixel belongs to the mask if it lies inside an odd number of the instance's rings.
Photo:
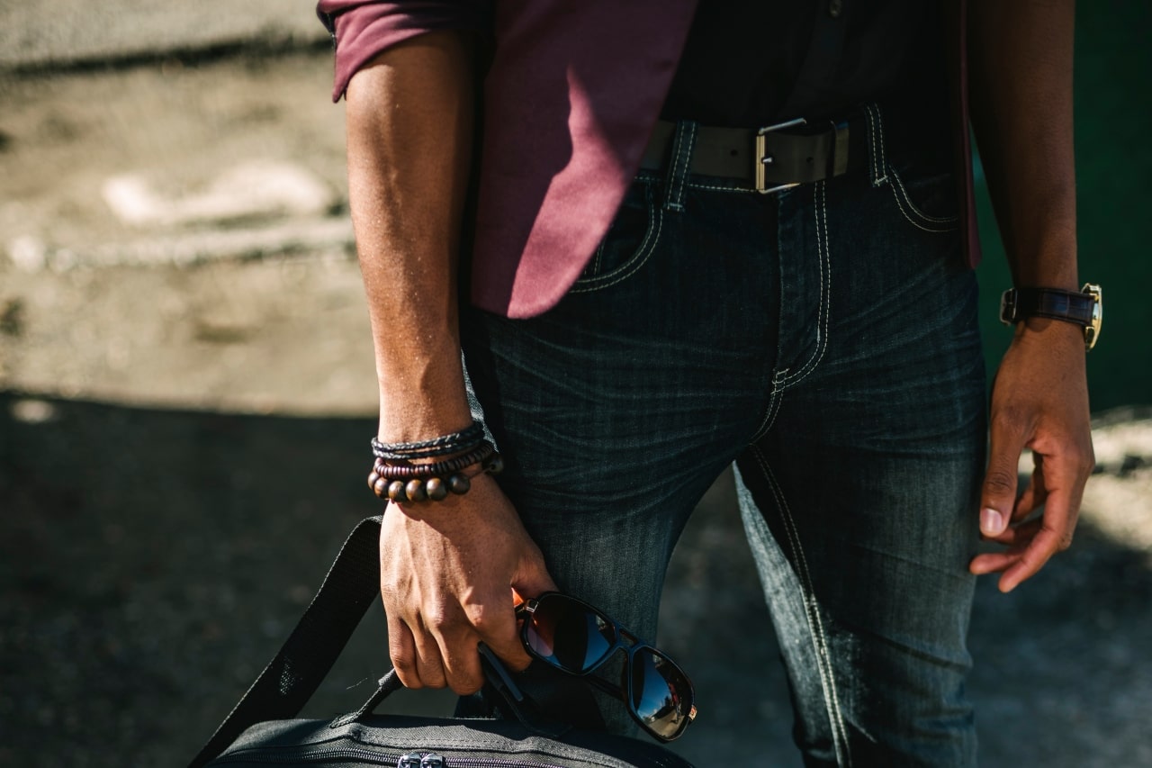
<svg viewBox="0 0 1152 768">
<path fill-rule="evenodd" d="M 472 142 L 467 33 L 423 35 L 348 86 L 348 186 L 380 381 L 380 435 L 410 441 L 470 421 L 456 258 Z"/>
</svg>

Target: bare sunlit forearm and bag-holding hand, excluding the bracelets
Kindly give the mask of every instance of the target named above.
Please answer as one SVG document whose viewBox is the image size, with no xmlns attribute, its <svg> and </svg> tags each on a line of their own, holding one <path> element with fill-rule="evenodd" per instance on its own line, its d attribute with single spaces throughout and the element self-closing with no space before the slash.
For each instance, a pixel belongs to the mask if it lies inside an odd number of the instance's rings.
<svg viewBox="0 0 1152 768">
<path fill-rule="evenodd" d="M 380 384 L 379 438 L 426 439 L 471 423 L 456 259 L 472 143 L 471 40 L 418 36 L 379 54 L 347 90 L 348 186 Z M 513 589 L 554 589 L 539 549 L 487 474 L 464 496 L 388 503 L 381 596 L 408 687 L 483 683 L 477 642 L 513 668 L 529 657 Z"/>
</svg>

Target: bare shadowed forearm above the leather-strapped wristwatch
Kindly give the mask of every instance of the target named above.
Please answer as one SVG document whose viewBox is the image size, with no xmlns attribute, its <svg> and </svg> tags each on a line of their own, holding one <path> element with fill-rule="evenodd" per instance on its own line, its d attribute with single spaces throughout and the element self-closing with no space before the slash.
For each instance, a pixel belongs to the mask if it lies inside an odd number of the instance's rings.
<svg viewBox="0 0 1152 768">
<path fill-rule="evenodd" d="M 972 123 L 1013 279 L 1075 289 L 1075 2 L 970 5 Z"/>
</svg>

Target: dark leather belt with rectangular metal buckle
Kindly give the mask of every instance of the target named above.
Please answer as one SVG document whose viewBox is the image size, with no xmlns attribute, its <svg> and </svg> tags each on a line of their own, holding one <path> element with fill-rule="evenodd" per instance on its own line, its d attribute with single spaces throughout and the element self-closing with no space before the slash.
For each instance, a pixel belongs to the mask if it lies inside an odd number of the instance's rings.
<svg viewBox="0 0 1152 768">
<path fill-rule="evenodd" d="M 657 123 L 641 168 L 667 166 L 675 133 L 676 123 Z M 688 172 L 735 179 L 766 194 L 863 168 L 867 156 L 863 113 L 842 121 L 790 120 L 758 129 L 699 126 Z"/>
</svg>

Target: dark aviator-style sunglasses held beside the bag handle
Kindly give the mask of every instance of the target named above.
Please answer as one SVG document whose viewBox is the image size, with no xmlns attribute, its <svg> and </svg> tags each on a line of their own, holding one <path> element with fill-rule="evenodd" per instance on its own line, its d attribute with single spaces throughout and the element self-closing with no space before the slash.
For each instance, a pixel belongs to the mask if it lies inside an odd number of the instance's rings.
<svg viewBox="0 0 1152 768">
<path fill-rule="evenodd" d="M 569 675 L 591 675 L 623 650 L 619 686 L 599 677 L 588 679 L 623 701 L 632 720 L 661 741 L 682 736 L 696 718 L 692 682 L 676 662 L 599 609 L 546 592 L 517 605 L 516 616 L 523 619 L 520 639 L 529 655 Z"/>
</svg>

